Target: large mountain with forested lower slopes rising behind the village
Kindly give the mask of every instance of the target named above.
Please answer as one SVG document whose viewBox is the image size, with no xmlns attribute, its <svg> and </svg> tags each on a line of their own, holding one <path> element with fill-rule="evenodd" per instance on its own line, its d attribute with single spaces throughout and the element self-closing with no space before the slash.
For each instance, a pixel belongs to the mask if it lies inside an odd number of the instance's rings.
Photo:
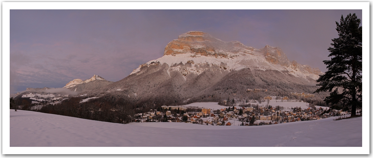
<svg viewBox="0 0 373 158">
<path fill-rule="evenodd" d="M 313 93 L 320 74 L 323 73 L 318 68 L 289 61 L 279 47 L 266 45 L 256 49 L 192 31 L 169 42 L 163 57 L 141 64 L 100 94 L 154 106 L 216 102 L 232 97 L 260 99 L 264 95 Z M 268 92 L 248 94 L 248 88 Z"/>
</svg>

